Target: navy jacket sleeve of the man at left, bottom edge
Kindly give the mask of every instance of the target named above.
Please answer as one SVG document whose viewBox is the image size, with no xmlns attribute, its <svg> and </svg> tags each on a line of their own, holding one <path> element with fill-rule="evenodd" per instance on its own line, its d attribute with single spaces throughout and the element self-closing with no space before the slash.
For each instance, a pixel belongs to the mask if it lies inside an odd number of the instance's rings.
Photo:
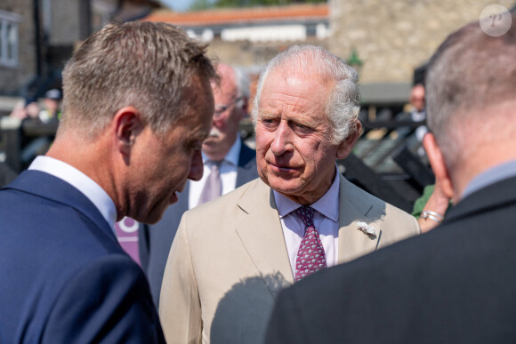
<svg viewBox="0 0 516 344">
<path fill-rule="evenodd" d="M 149 284 L 131 258 L 95 260 L 60 292 L 42 343 L 164 343 Z"/>
</svg>

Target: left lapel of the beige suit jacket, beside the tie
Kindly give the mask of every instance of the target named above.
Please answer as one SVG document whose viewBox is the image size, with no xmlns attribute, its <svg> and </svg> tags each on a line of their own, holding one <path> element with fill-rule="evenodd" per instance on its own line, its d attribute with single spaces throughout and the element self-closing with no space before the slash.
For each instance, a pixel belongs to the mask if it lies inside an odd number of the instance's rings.
<svg viewBox="0 0 516 344">
<path fill-rule="evenodd" d="M 238 236 L 276 298 L 286 285 L 294 283 L 294 276 L 274 196 L 262 180 L 256 180 L 238 206 L 243 212 L 237 223 Z"/>
</svg>

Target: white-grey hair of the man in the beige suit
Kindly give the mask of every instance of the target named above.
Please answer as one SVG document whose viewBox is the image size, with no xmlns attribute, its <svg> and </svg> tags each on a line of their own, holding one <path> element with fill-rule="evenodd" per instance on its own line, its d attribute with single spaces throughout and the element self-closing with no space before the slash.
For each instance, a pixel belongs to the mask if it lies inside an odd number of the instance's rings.
<svg viewBox="0 0 516 344">
<path fill-rule="evenodd" d="M 332 143 L 341 143 L 356 130 L 353 124 L 360 109 L 359 76 L 344 60 L 316 45 L 292 45 L 279 52 L 265 66 L 258 81 L 251 112 L 254 125 L 258 119 L 264 81 L 277 68 L 287 68 L 299 74 L 316 73 L 321 79 L 335 82 L 334 89 L 328 94 L 325 109 L 332 124 Z"/>
</svg>

